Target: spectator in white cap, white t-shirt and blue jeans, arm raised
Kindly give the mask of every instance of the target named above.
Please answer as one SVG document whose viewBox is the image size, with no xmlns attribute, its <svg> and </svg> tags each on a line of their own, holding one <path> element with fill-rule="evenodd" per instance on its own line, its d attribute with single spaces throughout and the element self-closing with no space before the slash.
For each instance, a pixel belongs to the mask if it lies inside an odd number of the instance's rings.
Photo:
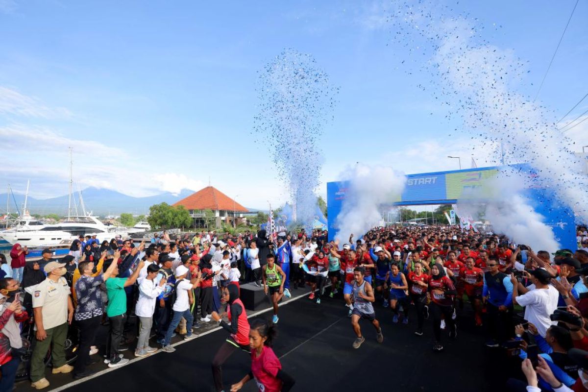
<svg viewBox="0 0 588 392">
<path fill-rule="evenodd" d="M 162 351 L 165 351 L 166 353 L 173 353 L 173 351 L 176 351 L 176 349 L 170 346 L 169 343 L 172 339 L 173 330 L 176 329 L 182 317 L 186 319 L 186 330 L 188 331 L 184 337 L 184 340 L 190 340 L 196 337 L 194 334 L 192 334 L 192 323 L 194 322 L 194 316 L 192 316 L 192 312 L 190 311 L 190 305 L 194 301 L 194 298 L 192 297 L 192 290 L 196 289 L 196 287 L 200 285 L 201 272 L 198 271 L 192 280 L 188 280 L 185 279 L 185 277 L 188 275 L 189 271 L 190 270 L 188 267 L 183 265 L 180 265 L 176 268 L 176 300 L 172 306 L 172 321 L 169 323 L 168 332 L 165 334 L 165 338 L 163 339 L 162 343 Z"/>
</svg>

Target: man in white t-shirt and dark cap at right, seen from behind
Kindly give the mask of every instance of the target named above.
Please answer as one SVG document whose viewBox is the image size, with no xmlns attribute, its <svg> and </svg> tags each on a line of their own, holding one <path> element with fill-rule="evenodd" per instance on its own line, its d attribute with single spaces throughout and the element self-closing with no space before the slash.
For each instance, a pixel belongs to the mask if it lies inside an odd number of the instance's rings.
<svg viewBox="0 0 588 392">
<path fill-rule="evenodd" d="M 546 270 L 537 268 L 531 271 L 530 275 L 535 288 L 522 295 L 519 295 L 519 282 L 515 275 L 510 275 L 510 281 L 513 283 L 513 304 L 524 306 L 524 319 L 533 323 L 539 334 L 545 337 L 547 329 L 557 324 L 549 316 L 557 309 L 559 293 L 549 284 L 552 276 Z"/>
</svg>

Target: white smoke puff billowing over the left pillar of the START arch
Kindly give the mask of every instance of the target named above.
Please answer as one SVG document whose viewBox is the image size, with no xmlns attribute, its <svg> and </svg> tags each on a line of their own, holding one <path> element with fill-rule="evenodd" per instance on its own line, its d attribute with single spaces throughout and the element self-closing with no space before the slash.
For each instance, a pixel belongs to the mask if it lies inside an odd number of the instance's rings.
<svg viewBox="0 0 588 392">
<path fill-rule="evenodd" d="M 380 205 L 394 201 L 405 185 L 406 176 L 392 167 L 358 164 L 341 175 L 349 180 L 345 200 L 337 217 L 336 239 L 346 242 L 349 234 L 363 236 L 382 219 Z"/>
</svg>

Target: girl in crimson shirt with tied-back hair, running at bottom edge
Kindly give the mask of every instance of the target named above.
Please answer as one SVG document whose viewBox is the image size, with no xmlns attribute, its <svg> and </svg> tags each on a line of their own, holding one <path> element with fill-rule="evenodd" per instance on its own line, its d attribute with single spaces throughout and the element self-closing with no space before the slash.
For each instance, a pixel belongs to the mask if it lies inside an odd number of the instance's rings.
<svg viewBox="0 0 588 392">
<path fill-rule="evenodd" d="M 238 383 L 230 386 L 231 392 L 243 388 L 253 378 L 260 392 L 288 392 L 295 380 L 282 370 L 282 364 L 272 350 L 276 331 L 273 324 L 262 319 L 253 320 L 249 331 L 251 371 Z"/>
</svg>

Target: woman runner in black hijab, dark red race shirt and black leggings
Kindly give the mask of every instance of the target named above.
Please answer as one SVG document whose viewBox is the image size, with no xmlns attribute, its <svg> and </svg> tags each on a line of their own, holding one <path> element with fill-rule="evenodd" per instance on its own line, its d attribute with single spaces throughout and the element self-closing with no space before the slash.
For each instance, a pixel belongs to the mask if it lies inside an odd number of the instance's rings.
<svg viewBox="0 0 588 392">
<path fill-rule="evenodd" d="M 453 296 L 457 294 L 453 282 L 445 273 L 443 265 L 435 263 L 431 267 L 431 279 L 429 280 L 429 294 L 431 303 L 430 312 L 433 315 L 433 333 L 435 333 L 435 344 L 433 350 L 442 351 L 441 345 L 441 316 L 445 316 L 445 323 L 449 326 L 449 337 L 457 337 L 457 326 L 453 315 Z"/>
</svg>

